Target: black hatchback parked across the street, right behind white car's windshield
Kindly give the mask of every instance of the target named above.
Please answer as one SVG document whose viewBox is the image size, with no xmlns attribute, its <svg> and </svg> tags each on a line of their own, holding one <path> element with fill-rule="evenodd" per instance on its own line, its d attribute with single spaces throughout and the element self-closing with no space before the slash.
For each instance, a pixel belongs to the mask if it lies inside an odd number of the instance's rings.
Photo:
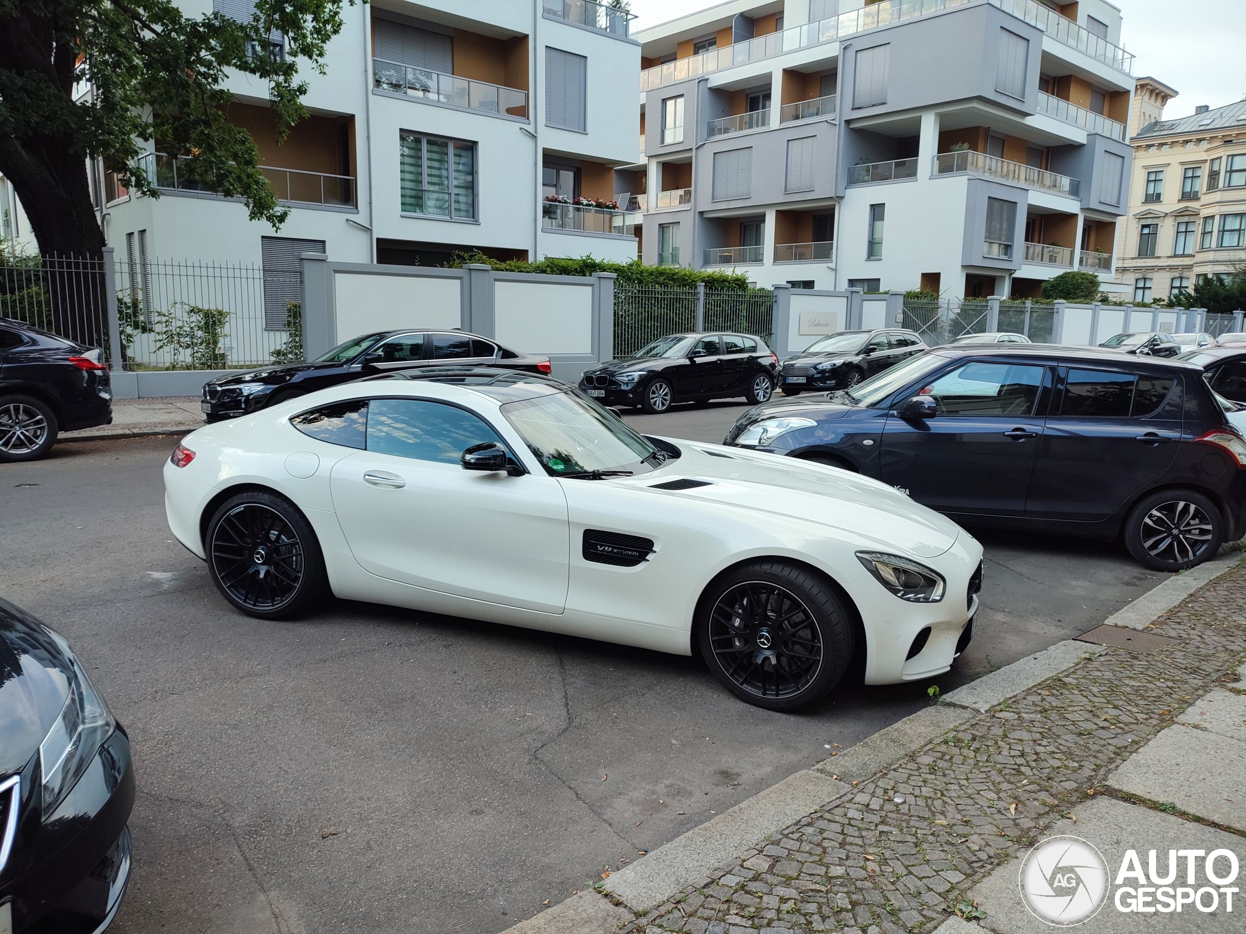
<svg viewBox="0 0 1246 934">
<path fill-rule="evenodd" d="M 669 334 L 637 351 L 584 370 L 579 390 L 608 406 L 665 412 L 675 402 L 744 396 L 770 399 L 779 371 L 766 342 L 754 334 Z"/>
</svg>

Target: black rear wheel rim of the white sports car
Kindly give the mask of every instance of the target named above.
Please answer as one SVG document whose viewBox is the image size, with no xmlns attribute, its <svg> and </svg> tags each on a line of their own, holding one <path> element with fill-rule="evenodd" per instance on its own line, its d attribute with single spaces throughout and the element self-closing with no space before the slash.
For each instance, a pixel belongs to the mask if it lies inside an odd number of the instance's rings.
<svg viewBox="0 0 1246 934">
<path fill-rule="evenodd" d="M 212 567 L 238 603 L 275 610 L 293 599 L 303 580 L 303 543 L 279 512 L 243 503 L 217 523 Z"/>
</svg>

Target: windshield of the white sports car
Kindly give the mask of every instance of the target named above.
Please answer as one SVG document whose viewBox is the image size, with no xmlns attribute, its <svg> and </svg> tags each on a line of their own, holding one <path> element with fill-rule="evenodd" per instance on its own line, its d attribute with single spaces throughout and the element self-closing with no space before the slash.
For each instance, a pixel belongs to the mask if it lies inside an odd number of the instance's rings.
<svg viewBox="0 0 1246 934">
<path fill-rule="evenodd" d="M 507 402 L 502 415 L 551 477 L 586 471 L 652 469 L 658 450 L 614 412 L 579 392 Z"/>
</svg>

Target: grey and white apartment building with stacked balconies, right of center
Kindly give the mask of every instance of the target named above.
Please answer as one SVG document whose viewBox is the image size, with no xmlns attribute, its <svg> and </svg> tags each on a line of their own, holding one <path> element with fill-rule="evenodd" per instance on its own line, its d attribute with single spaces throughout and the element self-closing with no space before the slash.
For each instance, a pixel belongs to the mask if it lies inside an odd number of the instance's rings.
<svg viewBox="0 0 1246 934">
<path fill-rule="evenodd" d="M 802 288 L 1120 288 L 1120 30 L 1105 0 L 728 0 L 642 31 L 644 259 Z"/>
</svg>

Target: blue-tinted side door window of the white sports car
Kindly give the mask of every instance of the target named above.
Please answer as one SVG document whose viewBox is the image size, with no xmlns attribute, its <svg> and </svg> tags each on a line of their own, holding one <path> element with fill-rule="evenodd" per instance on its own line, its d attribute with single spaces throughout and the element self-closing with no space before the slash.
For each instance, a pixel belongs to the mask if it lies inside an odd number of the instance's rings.
<svg viewBox="0 0 1246 934">
<path fill-rule="evenodd" d="M 374 399 L 368 413 L 368 450 L 381 455 L 459 463 L 465 448 L 486 441 L 502 440 L 477 416 L 442 402 Z"/>
</svg>

